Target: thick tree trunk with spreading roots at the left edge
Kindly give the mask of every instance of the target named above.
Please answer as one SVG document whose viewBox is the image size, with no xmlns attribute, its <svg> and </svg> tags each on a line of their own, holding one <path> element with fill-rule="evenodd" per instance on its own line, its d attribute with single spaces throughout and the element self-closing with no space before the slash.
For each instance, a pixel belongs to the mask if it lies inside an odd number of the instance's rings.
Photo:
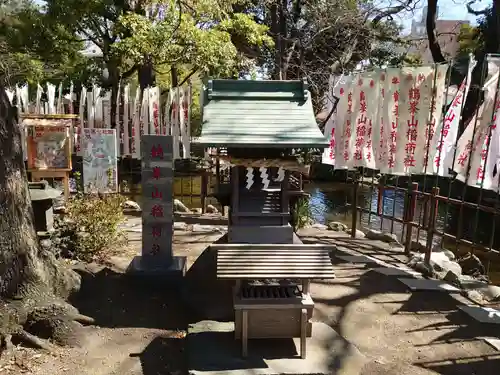
<svg viewBox="0 0 500 375">
<path fill-rule="evenodd" d="M 41 341 L 26 332 L 24 325 L 34 310 L 53 307 L 56 301 L 60 301 L 61 311 L 64 308 L 76 314 L 71 306 L 66 308 L 62 299 L 78 289 L 80 278 L 60 264 L 54 254 L 40 247 L 33 225 L 21 132 L 3 86 L 0 86 L 0 204 L 0 352 L 11 335 L 43 347 Z"/>
</svg>

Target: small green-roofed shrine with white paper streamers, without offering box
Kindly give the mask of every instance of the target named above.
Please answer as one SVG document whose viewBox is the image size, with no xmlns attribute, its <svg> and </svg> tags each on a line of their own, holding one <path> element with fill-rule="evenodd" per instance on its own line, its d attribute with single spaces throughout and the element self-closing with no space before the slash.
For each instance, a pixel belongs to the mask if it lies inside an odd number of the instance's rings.
<svg viewBox="0 0 500 375">
<path fill-rule="evenodd" d="M 211 80 L 198 143 L 231 166 L 229 242 L 293 243 L 289 201 L 308 168 L 298 150 L 325 148 L 303 81 Z M 223 150 L 222 150 L 223 149 Z"/>
</svg>

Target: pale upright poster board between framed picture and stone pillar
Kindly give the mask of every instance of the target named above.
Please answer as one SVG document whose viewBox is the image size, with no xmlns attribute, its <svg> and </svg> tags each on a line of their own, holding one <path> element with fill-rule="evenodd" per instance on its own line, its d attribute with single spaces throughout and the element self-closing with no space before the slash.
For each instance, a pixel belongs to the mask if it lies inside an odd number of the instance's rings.
<svg viewBox="0 0 500 375">
<path fill-rule="evenodd" d="M 83 185 L 85 193 L 118 192 L 115 129 L 83 129 Z"/>
</svg>

